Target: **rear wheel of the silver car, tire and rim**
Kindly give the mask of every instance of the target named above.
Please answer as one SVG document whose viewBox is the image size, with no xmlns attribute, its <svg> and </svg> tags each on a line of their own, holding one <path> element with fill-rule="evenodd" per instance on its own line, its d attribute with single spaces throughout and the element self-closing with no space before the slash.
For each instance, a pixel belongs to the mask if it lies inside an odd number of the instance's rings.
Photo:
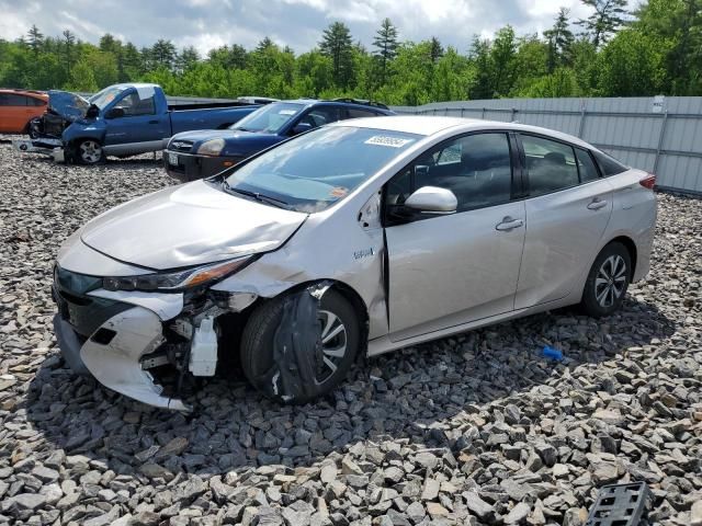
<svg viewBox="0 0 702 526">
<path fill-rule="evenodd" d="M 592 318 L 611 315 L 622 306 L 631 279 L 629 250 L 619 242 L 608 244 L 592 263 L 585 282 L 580 309 Z"/>
</svg>

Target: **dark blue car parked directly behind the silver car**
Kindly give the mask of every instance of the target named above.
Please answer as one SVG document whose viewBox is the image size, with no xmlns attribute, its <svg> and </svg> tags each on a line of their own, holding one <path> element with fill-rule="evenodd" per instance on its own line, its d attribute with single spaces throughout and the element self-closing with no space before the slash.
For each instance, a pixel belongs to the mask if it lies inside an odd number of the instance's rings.
<svg viewBox="0 0 702 526">
<path fill-rule="evenodd" d="M 355 99 L 299 99 L 260 107 L 227 129 L 174 135 L 163 151 L 166 171 L 180 182 L 207 178 L 247 157 L 325 124 L 394 115 L 387 106 Z"/>
</svg>

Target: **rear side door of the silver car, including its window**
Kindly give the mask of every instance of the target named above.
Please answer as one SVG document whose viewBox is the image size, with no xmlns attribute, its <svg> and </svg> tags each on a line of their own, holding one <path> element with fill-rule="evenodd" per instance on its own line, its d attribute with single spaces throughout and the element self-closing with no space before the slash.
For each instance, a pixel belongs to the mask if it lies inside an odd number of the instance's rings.
<svg viewBox="0 0 702 526">
<path fill-rule="evenodd" d="M 517 309 L 567 296 L 592 264 L 612 214 L 611 185 L 588 150 L 535 135 L 520 140 L 529 228 Z"/>
</svg>

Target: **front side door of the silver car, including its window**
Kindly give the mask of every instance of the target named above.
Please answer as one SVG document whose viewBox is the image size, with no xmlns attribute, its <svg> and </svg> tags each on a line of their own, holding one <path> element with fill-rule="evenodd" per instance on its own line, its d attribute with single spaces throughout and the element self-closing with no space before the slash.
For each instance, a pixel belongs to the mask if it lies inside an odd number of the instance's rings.
<svg viewBox="0 0 702 526">
<path fill-rule="evenodd" d="M 511 311 L 524 244 L 507 134 L 473 134 L 420 156 L 385 190 L 389 332 L 401 341 Z M 415 190 L 440 186 L 455 214 L 394 219 Z"/>
</svg>

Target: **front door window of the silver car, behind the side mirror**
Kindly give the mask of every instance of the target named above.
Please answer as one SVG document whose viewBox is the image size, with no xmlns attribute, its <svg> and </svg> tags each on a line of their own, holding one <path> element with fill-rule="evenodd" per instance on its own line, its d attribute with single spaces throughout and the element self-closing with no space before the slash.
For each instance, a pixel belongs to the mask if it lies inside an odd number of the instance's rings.
<svg viewBox="0 0 702 526">
<path fill-rule="evenodd" d="M 467 135 L 422 153 L 388 182 L 386 202 L 403 204 L 422 186 L 453 192 L 457 211 L 507 203 L 512 190 L 507 134 Z"/>
</svg>

